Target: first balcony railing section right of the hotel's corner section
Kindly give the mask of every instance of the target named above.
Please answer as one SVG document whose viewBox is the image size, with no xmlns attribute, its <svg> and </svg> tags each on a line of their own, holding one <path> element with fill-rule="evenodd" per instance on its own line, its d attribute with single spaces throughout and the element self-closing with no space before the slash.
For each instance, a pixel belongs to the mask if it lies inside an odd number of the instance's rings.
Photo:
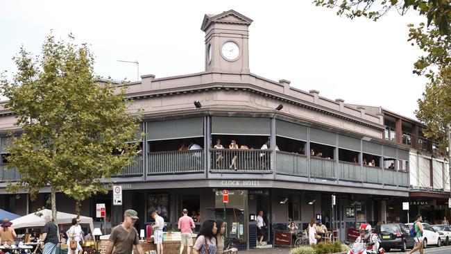
<svg viewBox="0 0 451 254">
<path fill-rule="evenodd" d="M 275 169 L 277 173 L 291 176 L 309 176 L 307 156 L 282 151 L 277 151 L 275 155 Z"/>
</svg>

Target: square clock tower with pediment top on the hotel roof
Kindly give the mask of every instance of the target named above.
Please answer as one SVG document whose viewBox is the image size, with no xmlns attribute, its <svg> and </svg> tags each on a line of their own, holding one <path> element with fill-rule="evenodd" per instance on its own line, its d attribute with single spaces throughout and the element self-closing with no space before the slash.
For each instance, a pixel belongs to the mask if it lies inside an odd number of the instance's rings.
<svg viewBox="0 0 451 254">
<path fill-rule="evenodd" d="M 249 74 L 249 31 L 252 19 L 228 10 L 205 15 L 205 71 Z"/>
</svg>

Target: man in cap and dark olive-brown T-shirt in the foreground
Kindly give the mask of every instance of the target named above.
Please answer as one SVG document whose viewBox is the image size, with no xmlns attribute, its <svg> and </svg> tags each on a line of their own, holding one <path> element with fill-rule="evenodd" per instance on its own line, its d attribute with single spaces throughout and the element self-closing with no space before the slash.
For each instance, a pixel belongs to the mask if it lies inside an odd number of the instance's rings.
<svg viewBox="0 0 451 254">
<path fill-rule="evenodd" d="M 139 254 L 144 254 L 144 249 L 139 244 L 138 232 L 133 227 L 137 219 L 139 219 L 137 214 L 135 210 L 131 209 L 124 212 L 124 222 L 115 227 L 111 232 L 106 254 L 131 254 L 133 245 L 136 246 Z"/>
</svg>

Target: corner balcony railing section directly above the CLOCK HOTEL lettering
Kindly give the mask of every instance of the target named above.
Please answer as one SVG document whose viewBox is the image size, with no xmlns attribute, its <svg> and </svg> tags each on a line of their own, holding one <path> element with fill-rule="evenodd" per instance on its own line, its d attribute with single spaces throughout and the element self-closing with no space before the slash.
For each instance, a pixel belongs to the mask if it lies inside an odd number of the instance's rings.
<svg viewBox="0 0 451 254">
<path fill-rule="evenodd" d="M 257 149 L 210 149 L 212 170 L 271 171 L 271 151 Z"/>
</svg>

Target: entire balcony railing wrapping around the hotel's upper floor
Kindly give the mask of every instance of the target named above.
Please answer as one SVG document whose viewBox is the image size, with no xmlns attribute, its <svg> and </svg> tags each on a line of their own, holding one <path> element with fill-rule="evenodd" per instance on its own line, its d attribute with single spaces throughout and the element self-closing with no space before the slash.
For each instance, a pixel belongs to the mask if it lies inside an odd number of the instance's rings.
<svg viewBox="0 0 451 254">
<path fill-rule="evenodd" d="M 409 187 L 409 171 L 362 166 L 345 161 L 337 163 L 337 160 L 317 157 L 310 158 L 308 163 L 306 155 L 284 151 L 272 153 L 271 150 L 259 149 L 210 149 L 209 153 L 210 169 L 216 172 L 273 172 L 309 178 L 310 171 L 310 178 L 337 180 L 338 171 L 341 183 L 373 183 L 381 187 L 382 184 Z M 271 156 L 275 156 L 275 169 L 271 168 Z M 142 154 L 135 155 L 133 164 L 124 169 L 118 177 L 138 176 L 144 179 L 143 159 Z M 147 160 L 148 167 L 145 172 L 148 176 L 204 173 L 206 170 L 204 150 L 153 152 L 147 154 Z M 6 164 L 0 164 L 0 168 L 2 169 L 0 170 L 1 182 L 15 181 L 21 177 L 17 169 L 5 170 Z M 180 179 L 182 178 L 183 176 L 180 176 Z"/>
</svg>

